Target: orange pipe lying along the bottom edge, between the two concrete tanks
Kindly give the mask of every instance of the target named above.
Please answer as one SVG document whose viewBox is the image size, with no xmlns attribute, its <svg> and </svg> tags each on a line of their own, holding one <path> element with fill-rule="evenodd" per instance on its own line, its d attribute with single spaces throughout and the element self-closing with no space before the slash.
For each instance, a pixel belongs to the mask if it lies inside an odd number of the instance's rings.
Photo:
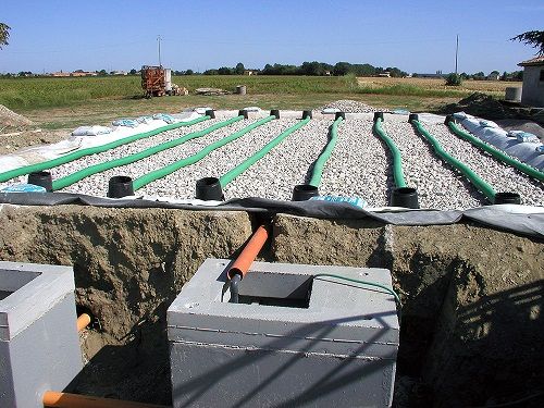
<svg viewBox="0 0 544 408">
<path fill-rule="evenodd" d="M 87 395 L 46 391 L 44 407 L 49 408 L 171 408 L 164 405 L 134 403 L 129 400 L 89 397 Z"/>
</svg>

